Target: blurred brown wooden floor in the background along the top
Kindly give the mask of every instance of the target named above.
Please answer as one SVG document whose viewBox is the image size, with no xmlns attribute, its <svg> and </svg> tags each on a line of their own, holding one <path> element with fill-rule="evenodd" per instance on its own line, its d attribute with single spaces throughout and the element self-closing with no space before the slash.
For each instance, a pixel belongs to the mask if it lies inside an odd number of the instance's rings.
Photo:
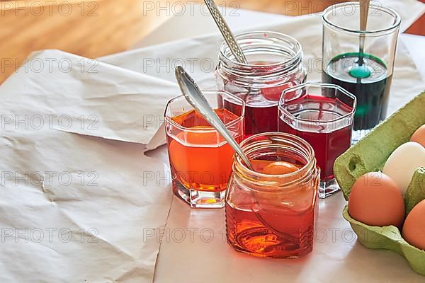
<svg viewBox="0 0 425 283">
<path fill-rule="evenodd" d="M 0 0 L 0 83 L 34 50 L 55 48 L 91 58 L 126 50 L 171 16 L 161 7 L 169 6 L 176 11 L 177 3 L 181 1 Z M 216 3 L 297 15 L 321 11 L 336 1 L 216 0 Z M 409 32 L 425 35 L 424 27 L 425 17 L 422 17 Z"/>
</svg>

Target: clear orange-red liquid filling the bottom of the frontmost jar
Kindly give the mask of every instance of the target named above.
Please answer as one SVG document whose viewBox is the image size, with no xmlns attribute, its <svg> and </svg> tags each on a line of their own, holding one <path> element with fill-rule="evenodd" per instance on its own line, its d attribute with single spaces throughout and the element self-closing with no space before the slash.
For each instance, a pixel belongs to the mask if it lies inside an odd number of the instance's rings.
<svg viewBox="0 0 425 283">
<path fill-rule="evenodd" d="M 226 203 L 227 242 L 230 246 L 270 258 L 296 258 L 312 251 L 314 206 L 297 212 L 260 205 L 261 209 L 253 212 L 248 205 L 241 209 Z"/>
</svg>

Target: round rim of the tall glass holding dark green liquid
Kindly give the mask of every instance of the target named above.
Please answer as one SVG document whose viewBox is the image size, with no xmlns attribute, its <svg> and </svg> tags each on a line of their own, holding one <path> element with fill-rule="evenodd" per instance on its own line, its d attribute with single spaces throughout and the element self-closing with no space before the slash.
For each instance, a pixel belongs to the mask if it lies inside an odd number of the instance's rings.
<svg viewBox="0 0 425 283">
<path fill-rule="evenodd" d="M 359 2 L 342 2 L 339 4 L 335 4 L 332 6 L 329 6 L 328 8 L 326 8 L 323 13 L 322 13 L 322 21 L 324 23 L 327 23 L 328 25 L 331 25 L 331 27 L 336 28 L 337 30 L 343 30 L 346 31 L 348 33 L 356 33 L 356 34 L 363 34 L 363 35 L 377 35 L 380 33 L 386 33 L 386 32 L 390 32 L 392 30 L 395 30 L 396 28 L 399 27 L 400 23 L 402 22 L 402 18 L 399 16 L 399 14 L 394 11 L 392 8 L 387 8 L 387 7 L 383 7 L 383 6 L 373 6 L 373 4 L 371 4 L 369 6 L 369 11 L 370 10 L 375 10 L 375 11 L 383 11 L 385 13 L 387 13 L 388 15 L 392 16 L 393 18 L 395 18 L 395 22 L 392 23 L 392 25 L 390 25 L 387 28 L 382 28 L 382 29 L 378 29 L 378 30 L 353 30 L 351 28 L 344 28 L 341 27 L 340 25 L 336 25 L 335 23 L 332 23 L 329 18 L 327 16 L 329 16 L 329 13 L 331 11 L 334 11 L 337 8 L 342 8 L 344 6 L 347 5 L 352 5 L 352 6 L 356 6 L 356 7 L 360 7 L 360 3 Z"/>
</svg>

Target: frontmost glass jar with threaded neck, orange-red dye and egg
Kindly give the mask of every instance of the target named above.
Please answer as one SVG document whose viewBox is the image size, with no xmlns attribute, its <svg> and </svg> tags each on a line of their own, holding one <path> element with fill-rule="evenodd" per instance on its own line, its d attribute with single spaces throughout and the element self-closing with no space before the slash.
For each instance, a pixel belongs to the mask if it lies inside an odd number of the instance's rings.
<svg viewBox="0 0 425 283">
<path fill-rule="evenodd" d="M 227 243 L 266 258 L 312 251 L 319 168 L 307 141 L 268 132 L 242 141 L 255 171 L 235 156 L 226 196 Z"/>
</svg>

